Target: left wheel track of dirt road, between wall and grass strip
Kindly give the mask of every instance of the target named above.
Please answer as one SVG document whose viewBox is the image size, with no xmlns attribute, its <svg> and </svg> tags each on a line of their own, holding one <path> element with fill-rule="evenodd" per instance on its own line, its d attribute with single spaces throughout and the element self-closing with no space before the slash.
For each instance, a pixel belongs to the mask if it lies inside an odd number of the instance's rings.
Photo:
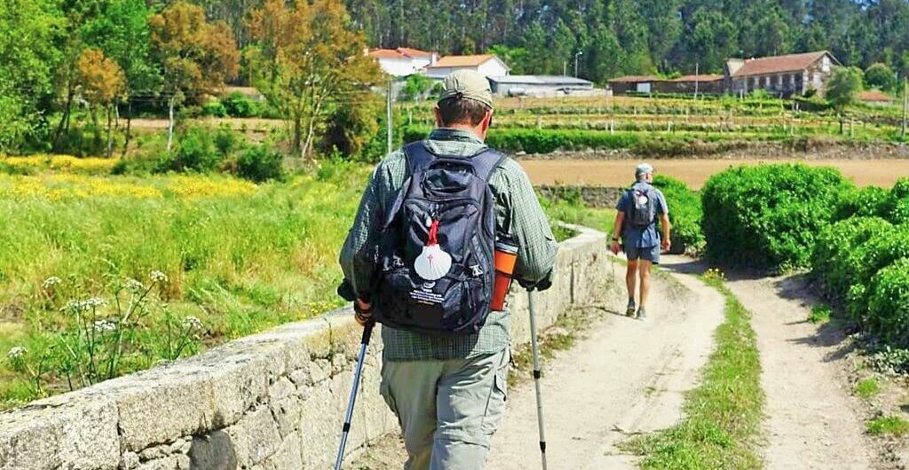
<svg viewBox="0 0 909 470">
<path fill-rule="evenodd" d="M 672 262 L 672 261 L 670 261 Z M 616 267 L 617 282 L 624 269 Z M 615 444 L 631 433 L 671 426 L 681 418 L 683 392 L 696 385 L 723 319 L 724 299 L 697 279 L 655 282 L 650 318 L 624 318 L 624 296 L 611 299 L 602 319 L 574 348 L 559 353 L 544 371 L 547 455 L 551 468 L 636 468 Z M 678 284 L 681 284 L 679 286 Z M 504 423 L 486 468 L 539 466 L 533 383 L 514 387 Z M 397 439 L 351 465 L 400 469 Z"/>
</svg>

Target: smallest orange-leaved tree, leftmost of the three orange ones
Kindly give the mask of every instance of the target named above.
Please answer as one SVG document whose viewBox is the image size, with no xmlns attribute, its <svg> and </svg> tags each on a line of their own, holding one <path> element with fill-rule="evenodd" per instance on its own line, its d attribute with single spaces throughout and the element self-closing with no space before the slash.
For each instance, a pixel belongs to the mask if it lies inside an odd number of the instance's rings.
<svg viewBox="0 0 909 470">
<path fill-rule="evenodd" d="M 107 157 L 114 152 L 113 122 L 115 104 L 123 99 L 126 79 L 123 69 L 100 49 L 85 49 L 78 62 L 79 83 L 82 94 L 92 109 L 92 121 L 97 125 L 97 109 L 105 110 L 107 117 Z"/>
</svg>

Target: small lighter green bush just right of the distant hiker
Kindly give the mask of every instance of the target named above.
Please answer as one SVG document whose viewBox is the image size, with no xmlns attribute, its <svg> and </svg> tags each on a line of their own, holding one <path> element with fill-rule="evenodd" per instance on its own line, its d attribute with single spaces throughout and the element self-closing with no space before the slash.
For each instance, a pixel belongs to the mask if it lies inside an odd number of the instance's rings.
<svg viewBox="0 0 909 470">
<path fill-rule="evenodd" d="M 669 205 L 669 221 L 673 224 L 673 244 L 681 242 L 681 250 L 699 252 L 704 249 L 701 231 L 701 198 L 684 182 L 663 175 L 654 178 L 654 186 L 663 191 Z"/>
</svg>

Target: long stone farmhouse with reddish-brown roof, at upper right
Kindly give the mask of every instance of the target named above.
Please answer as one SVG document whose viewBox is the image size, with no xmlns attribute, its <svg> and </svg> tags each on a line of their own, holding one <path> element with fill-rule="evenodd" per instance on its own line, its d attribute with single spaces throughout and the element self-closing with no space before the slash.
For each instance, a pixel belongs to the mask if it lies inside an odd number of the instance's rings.
<svg viewBox="0 0 909 470">
<path fill-rule="evenodd" d="M 777 55 L 758 59 L 729 59 L 725 64 L 725 90 L 750 93 L 765 90 L 778 96 L 824 93 L 824 84 L 839 65 L 827 51 Z"/>
</svg>

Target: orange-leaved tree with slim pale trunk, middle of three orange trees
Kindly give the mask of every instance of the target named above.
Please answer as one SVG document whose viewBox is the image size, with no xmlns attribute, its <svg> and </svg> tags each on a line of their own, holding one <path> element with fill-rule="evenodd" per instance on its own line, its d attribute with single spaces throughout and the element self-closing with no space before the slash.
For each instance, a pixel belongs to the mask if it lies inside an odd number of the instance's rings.
<svg viewBox="0 0 909 470">
<path fill-rule="evenodd" d="M 214 93 L 239 70 L 239 53 L 227 24 L 209 24 L 200 6 L 178 1 L 151 17 L 149 27 L 167 98 L 167 151 L 174 141 L 175 107 Z"/>
</svg>

